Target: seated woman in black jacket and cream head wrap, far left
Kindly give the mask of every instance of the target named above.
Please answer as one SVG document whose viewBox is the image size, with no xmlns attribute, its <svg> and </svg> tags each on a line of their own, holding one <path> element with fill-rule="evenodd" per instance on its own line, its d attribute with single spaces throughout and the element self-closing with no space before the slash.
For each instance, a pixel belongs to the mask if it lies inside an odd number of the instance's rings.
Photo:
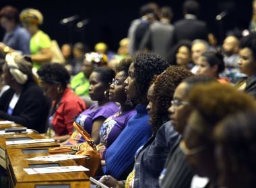
<svg viewBox="0 0 256 188">
<path fill-rule="evenodd" d="M 10 89 L 0 97 L 0 118 L 43 133 L 50 102 L 37 85 L 32 63 L 19 54 L 7 54 L 2 78 Z"/>
</svg>

